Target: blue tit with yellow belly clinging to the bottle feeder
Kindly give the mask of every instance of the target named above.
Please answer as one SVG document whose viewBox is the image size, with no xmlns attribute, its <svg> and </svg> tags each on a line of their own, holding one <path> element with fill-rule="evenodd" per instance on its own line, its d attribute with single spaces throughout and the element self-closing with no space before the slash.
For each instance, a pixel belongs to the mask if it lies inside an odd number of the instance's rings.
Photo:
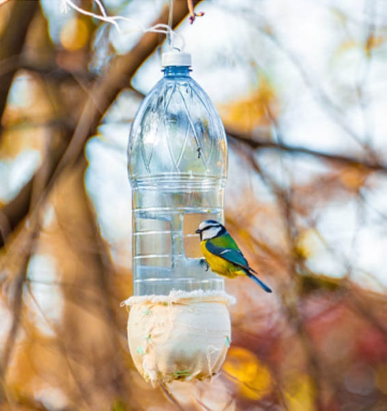
<svg viewBox="0 0 387 411">
<path fill-rule="evenodd" d="M 254 275 L 256 271 L 249 266 L 242 251 L 228 234 L 224 225 L 215 220 L 202 221 L 196 233 L 200 234 L 203 256 L 214 273 L 228 278 L 247 275 L 266 292 L 271 292 L 271 289 Z"/>
</svg>

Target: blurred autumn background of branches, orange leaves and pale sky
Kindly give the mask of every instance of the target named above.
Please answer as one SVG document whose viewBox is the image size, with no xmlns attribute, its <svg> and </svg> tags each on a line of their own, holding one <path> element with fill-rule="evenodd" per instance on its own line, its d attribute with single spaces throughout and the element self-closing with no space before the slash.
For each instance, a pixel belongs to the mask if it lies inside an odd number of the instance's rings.
<svg viewBox="0 0 387 411">
<path fill-rule="evenodd" d="M 211 382 L 144 382 L 126 145 L 165 36 L 1 0 L 0 409 L 387 410 L 387 3 L 193 1 L 190 25 L 186 0 L 103 1 L 145 27 L 171 3 L 228 135 L 226 225 L 274 292 L 226 281 Z"/>
</svg>

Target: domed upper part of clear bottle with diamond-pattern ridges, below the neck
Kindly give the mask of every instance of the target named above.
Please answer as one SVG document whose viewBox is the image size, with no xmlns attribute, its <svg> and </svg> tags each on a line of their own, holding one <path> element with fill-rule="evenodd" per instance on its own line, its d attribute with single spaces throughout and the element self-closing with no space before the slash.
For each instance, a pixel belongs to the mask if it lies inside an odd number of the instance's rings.
<svg viewBox="0 0 387 411">
<path fill-rule="evenodd" d="M 191 77 L 163 77 L 139 107 L 129 138 L 131 178 L 160 173 L 224 177 L 227 142 L 209 96 Z"/>
</svg>

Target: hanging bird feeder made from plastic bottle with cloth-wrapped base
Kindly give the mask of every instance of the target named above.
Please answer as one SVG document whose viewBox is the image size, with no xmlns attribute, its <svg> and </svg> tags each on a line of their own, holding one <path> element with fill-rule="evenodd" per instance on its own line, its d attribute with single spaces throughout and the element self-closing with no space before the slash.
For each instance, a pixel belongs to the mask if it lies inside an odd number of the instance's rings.
<svg viewBox="0 0 387 411">
<path fill-rule="evenodd" d="M 235 300 L 195 234 L 200 221 L 224 221 L 224 127 L 189 75 L 191 55 L 170 51 L 162 60 L 164 77 L 140 105 L 128 149 L 134 295 L 124 303 L 131 356 L 151 382 L 217 373 Z"/>
</svg>

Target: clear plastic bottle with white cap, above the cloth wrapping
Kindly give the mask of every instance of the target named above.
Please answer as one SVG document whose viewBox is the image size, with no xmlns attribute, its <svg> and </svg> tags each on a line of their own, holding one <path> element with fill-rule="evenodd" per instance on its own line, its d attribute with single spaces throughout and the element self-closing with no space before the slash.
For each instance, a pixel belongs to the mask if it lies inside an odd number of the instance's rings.
<svg viewBox="0 0 387 411">
<path fill-rule="evenodd" d="M 200 221 L 224 221 L 224 127 L 189 75 L 190 55 L 166 53 L 163 62 L 164 77 L 140 105 L 129 137 L 133 294 L 224 290 L 195 234 Z"/>
</svg>

